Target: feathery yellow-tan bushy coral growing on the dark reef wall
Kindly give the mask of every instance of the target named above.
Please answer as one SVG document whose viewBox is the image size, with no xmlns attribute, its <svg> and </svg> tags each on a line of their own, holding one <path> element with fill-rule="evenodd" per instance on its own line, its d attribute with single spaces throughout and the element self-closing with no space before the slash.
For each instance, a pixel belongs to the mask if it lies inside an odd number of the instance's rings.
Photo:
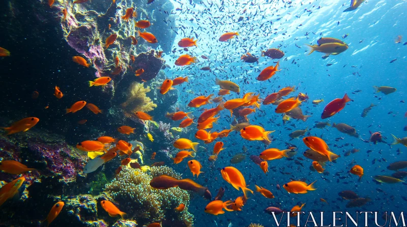
<svg viewBox="0 0 407 227">
<path fill-rule="evenodd" d="M 133 116 L 134 112 L 142 111 L 148 112 L 157 107 L 146 93 L 150 92 L 150 87 L 144 88 L 140 83 L 133 82 L 127 90 L 127 101 L 122 103 L 122 108 L 125 110 L 126 115 Z"/>
</svg>

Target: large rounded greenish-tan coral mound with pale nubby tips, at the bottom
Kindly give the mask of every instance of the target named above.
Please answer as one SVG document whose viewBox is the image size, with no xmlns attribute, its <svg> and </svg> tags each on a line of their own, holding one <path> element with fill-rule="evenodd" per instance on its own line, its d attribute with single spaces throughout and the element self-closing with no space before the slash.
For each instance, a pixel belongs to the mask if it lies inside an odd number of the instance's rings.
<svg viewBox="0 0 407 227">
<path fill-rule="evenodd" d="M 166 166 L 152 167 L 150 172 L 140 169 L 123 167 L 122 171 L 106 184 L 105 191 L 121 204 L 127 204 L 126 213 L 129 219 L 137 223 L 161 222 L 174 219 L 192 226 L 193 215 L 188 212 L 189 194 L 179 187 L 157 190 L 150 186 L 153 177 L 169 175 L 181 178 L 181 175 Z M 174 208 L 185 205 L 183 212 L 175 212 Z"/>
</svg>

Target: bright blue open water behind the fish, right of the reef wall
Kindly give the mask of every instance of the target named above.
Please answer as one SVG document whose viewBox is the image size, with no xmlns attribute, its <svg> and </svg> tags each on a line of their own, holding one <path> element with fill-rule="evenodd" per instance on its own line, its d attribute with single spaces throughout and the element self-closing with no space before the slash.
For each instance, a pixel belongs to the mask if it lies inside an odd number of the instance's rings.
<svg viewBox="0 0 407 227">
<path fill-rule="evenodd" d="M 184 34 L 180 29 L 178 30 L 180 35 L 177 36 L 173 48 L 177 47 L 178 40 L 183 37 L 195 36 L 194 32 L 196 32 L 199 37 L 198 47 L 189 48 L 189 53 L 192 56 L 205 55 L 210 58 L 210 60 L 205 60 L 198 57 L 199 63 L 190 67 L 174 66 L 167 70 L 168 78 L 181 75 L 189 75 L 190 77 L 190 83 L 181 85 L 179 91 L 183 91 L 185 87 L 186 90 L 193 90 L 195 94 L 180 92 L 179 100 L 182 110 L 194 111 L 193 115 L 198 117 L 201 111 L 185 108 L 183 103 L 197 95 L 216 94 L 219 87 L 215 85 L 215 77 L 227 79 L 240 85 L 241 94 L 233 93 L 225 96 L 227 99 L 242 97 L 244 93 L 258 92 L 260 89 L 265 91 L 261 92 L 260 98 L 265 98 L 268 94 L 277 92 L 278 86 L 296 86 L 298 89 L 294 93 L 295 95 L 302 92 L 309 96 L 310 101 L 301 105 L 304 115 L 306 113 L 312 115 L 306 122 L 291 120 L 285 126 L 277 126 L 276 124 L 282 125 L 282 117 L 274 112 L 276 107 L 274 105 L 260 106 L 260 109 L 266 112 L 265 114 L 257 111 L 249 115 L 250 123 L 262 123 L 266 130 L 277 130 L 273 133 L 274 141 L 269 148 L 284 149 L 286 147 L 285 142 L 290 139 L 288 134 L 292 132 L 288 131 L 287 128 L 297 130 L 308 127 L 310 129 L 315 124 L 314 122 L 326 120 L 329 120 L 331 124 L 335 122 L 354 126 L 360 135 L 360 138 L 355 138 L 331 127 L 327 127 L 328 130 L 312 128 L 310 130 L 312 135 L 320 136 L 323 134 L 323 138 L 332 151 L 342 156 L 337 160 L 337 163 L 327 165 L 325 171 L 330 174 L 323 175 L 311 172 L 308 169 L 311 165 L 309 160 L 301 161 L 304 168 L 301 166 L 298 168 L 299 166 L 295 165 L 294 161 L 280 159 L 269 161 L 269 169 L 276 167 L 277 170 L 284 169 L 283 172 L 291 172 L 292 174 L 283 175 L 279 171 L 270 170 L 265 175 L 249 159 L 249 155 L 245 161 L 239 164 L 229 163 L 231 156 L 242 152 L 243 145 L 248 147 L 249 154 L 254 155 L 259 155 L 264 148 L 261 141 L 247 141 L 235 132 L 230 133 L 229 137 L 222 139 L 226 149 L 220 153 L 215 164 L 208 162 L 205 154 L 198 154 L 199 158 L 197 159 L 202 161 L 203 166 L 201 171 L 205 173 L 199 176 L 197 182 L 208 186 L 213 196 L 216 195 L 220 186 L 224 186 L 226 192 L 223 201 L 234 200 L 238 196 L 242 196 L 242 192 L 235 190 L 225 182 L 219 171 L 225 166 L 234 166 L 243 173 L 250 188 L 253 189 L 254 184 L 266 187 L 273 192 L 275 199 L 267 199 L 256 193 L 250 197 L 243 207 L 243 211 L 226 212 L 223 215 L 213 216 L 203 212 L 203 208 L 208 202 L 196 197 L 191 200 L 189 208 L 196 217 L 196 226 L 208 226 L 208 222 L 211 223 L 210 226 L 215 226 L 215 221 L 218 226 L 227 226 L 229 222 L 234 226 L 247 226 L 250 222 L 272 226 L 273 217 L 264 213 L 265 208 L 278 206 L 283 210 L 290 210 L 294 205 L 300 203 L 306 203 L 303 211 L 317 212 L 403 210 L 406 201 L 400 198 L 400 194 L 403 194 L 405 185 L 401 183 L 377 185 L 372 181 L 372 176 L 393 173 L 386 167 L 392 162 L 406 159 L 405 147 L 401 144 L 391 147 L 385 143 L 374 145 L 371 142 L 363 142 L 361 138 L 368 139 L 370 137 L 369 131 L 380 131 L 386 137 L 384 140 L 391 143 L 393 138 L 390 134 L 397 137 L 406 135 L 403 127 L 405 125 L 404 112 L 407 109 L 405 103 L 400 101 L 405 101 L 407 46 L 402 45 L 405 38 L 400 44 L 394 42 L 397 35 L 407 36 L 405 29 L 407 5 L 405 1 L 368 1 L 357 10 L 347 13 L 342 11 L 348 7 L 350 1 L 303 1 L 302 6 L 299 1 L 293 1 L 291 4 L 288 4 L 287 1 L 284 1 L 285 3 L 282 1 L 224 1 L 222 6 L 219 1 L 204 1 L 202 4 L 194 6 L 190 5 L 189 1 L 172 2 L 176 8 L 182 9 L 182 11 L 175 11 L 176 15 L 179 16 L 176 23 L 179 28 L 184 27 L 183 30 L 185 31 Z M 179 5 L 179 2 L 182 5 Z M 209 8 L 211 3 L 213 6 Z M 220 6 L 221 12 L 218 11 Z M 318 7 L 320 8 L 318 9 Z M 244 9 L 247 10 L 246 13 L 243 13 Z M 311 12 L 306 12 L 306 10 L 311 10 Z M 253 16 L 254 14 L 257 15 Z M 245 17 L 245 19 L 242 22 L 237 22 L 240 16 Z M 191 18 L 200 20 L 189 21 Z M 278 18 L 281 19 L 277 20 Z M 272 25 L 270 21 L 273 22 Z M 259 28 L 262 24 L 264 24 L 263 27 Z M 300 24 L 302 26 L 299 26 Z M 193 31 L 190 32 L 191 30 Z M 238 31 L 240 35 L 230 42 L 217 41 L 221 34 L 229 31 Z M 277 34 L 273 32 L 277 32 Z M 344 34 L 348 34 L 348 36 L 342 39 Z M 322 53 L 314 52 L 306 56 L 308 49 L 304 44 L 316 44 L 316 40 L 320 37 L 336 37 L 348 44 L 349 48 L 345 52 L 330 56 L 325 60 L 321 58 Z M 275 65 L 277 60 L 260 57 L 258 64 L 245 63 L 240 61 L 240 56 L 247 51 L 259 57 L 261 50 L 277 48 L 280 45 L 282 46 L 280 49 L 285 53 L 285 56 L 280 59 L 282 70 L 273 76 L 271 82 L 256 81 L 255 78 L 259 71 L 267 66 Z M 166 55 L 165 59 L 169 65 L 172 65 L 178 56 L 178 53 L 170 54 L 169 56 Z M 393 59 L 397 60 L 390 63 Z M 293 60 L 296 64 L 292 63 Z M 332 65 L 326 66 L 327 64 Z M 205 66 L 210 66 L 213 73 L 200 70 L 201 67 Z M 215 69 L 216 67 L 217 69 Z M 244 78 L 249 84 L 244 84 Z M 383 93 L 375 93 L 372 86 L 390 86 L 397 88 L 397 91 L 384 95 Z M 356 90 L 361 90 L 361 92 L 353 94 Z M 325 105 L 335 98 L 342 98 L 345 93 L 353 101 L 347 103 L 337 115 L 322 120 L 321 113 Z M 315 99 L 324 99 L 325 101 L 314 106 L 311 101 Z M 367 117 L 362 118 L 362 110 L 368 107 L 370 103 L 377 106 L 371 109 Z M 214 106 L 215 104 L 210 107 Z M 205 106 L 205 108 L 210 107 Z M 222 111 L 219 124 L 215 125 L 212 130 L 220 131 L 228 128 L 231 122 L 230 118 L 227 117 L 228 115 L 227 110 Z M 291 124 L 295 124 L 295 127 L 290 126 Z M 191 139 L 195 141 L 193 134 L 194 131 L 191 132 Z M 338 137 L 344 139 L 335 141 L 335 138 Z M 294 139 L 290 143 L 298 146 L 296 157 L 304 158 L 302 153 L 307 147 L 302 139 Z M 350 143 L 350 145 L 341 148 L 334 147 L 334 144 L 341 146 L 345 143 Z M 206 148 L 212 152 L 213 145 L 214 143 L 206 145 Z M 352 148 L 360 149 L 360 152 L 344 157 L 344 152 Z M 397 155 L 396 152 L 398 148 L 402 152 L 400 155 Z M 372 150 L 372 152 L 367 153 L 368 150 Z M 374 159 L 376 162 L 372 164 Z M 364 176 L 360 182 L 358 182 L 358 176 L 346 173 L 354 165 L 348 166 L 352 161 L 364 168 Z M 178 168 L 182 170 L 184 167 Z M 339 171 L 344 171 L 340 175 L 346 176 L 346 179 L 341 179 L 337 183 L 338 176 L 334 174 Z M 188 169 L 185 170 L 184 177 L 192 177 Z M 306 178 L 308 183 L 317 180 L 315 183 L 317 190 L 305 195 L 293 195 L 288 194 L 283 188 L 280 191 L 276 189 L 277 183 L 282 185 L 289 182 L 290 178 L 297 180 Z M 208 179 L 208 182 L 205 182 L 205 179 Z M 386 194 L 377 192 L 377 187 L 380 187 Z M 372 201 L 362 208 L 346 208 L 347 201 L 338 196 L 338 193 L 343 190 L 352 190 L 360 197 L 369 197 Z M 320 202 L 319 198 L 327 200 L 329 205 Z"/>
</svg>

